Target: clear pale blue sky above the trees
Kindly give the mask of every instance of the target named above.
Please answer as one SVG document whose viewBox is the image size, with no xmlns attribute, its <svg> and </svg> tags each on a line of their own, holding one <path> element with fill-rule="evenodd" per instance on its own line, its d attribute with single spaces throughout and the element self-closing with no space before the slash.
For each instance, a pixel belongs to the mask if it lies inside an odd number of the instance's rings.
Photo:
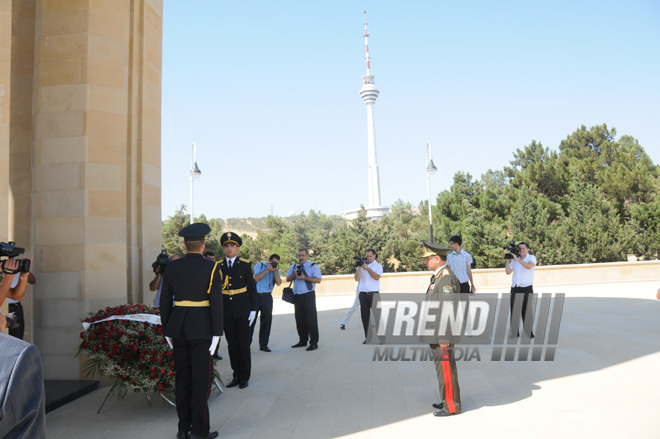
<svg viewBox="0 0 660 439">
<path fill-rule="evenodd" d="M 162 217 L 367 204 L 363 9 L 381 200 L 426 199 L 606 123 L 660 163 L 660 2 L 164 0 Z"/>
</svg>

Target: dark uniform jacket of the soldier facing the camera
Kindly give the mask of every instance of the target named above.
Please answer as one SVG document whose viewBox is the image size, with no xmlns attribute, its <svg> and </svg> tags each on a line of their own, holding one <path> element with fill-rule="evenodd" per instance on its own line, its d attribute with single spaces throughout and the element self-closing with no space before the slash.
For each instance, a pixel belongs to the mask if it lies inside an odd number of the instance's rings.
<svg viewBox="0 0 660 439">
<path fill-rule="evenodd" d="M 218 264 L 224 277 L 223 290 L 226 293 L 246 289 L 243 293 L 223 294 L 225 318 L 247 318 L 250 311 L 257 310 L 257 284 L 254 282 L 252 264 L 242 258 L 234 259 L 231 270 L 227 267 L 227 259 Z"/>
</svg>

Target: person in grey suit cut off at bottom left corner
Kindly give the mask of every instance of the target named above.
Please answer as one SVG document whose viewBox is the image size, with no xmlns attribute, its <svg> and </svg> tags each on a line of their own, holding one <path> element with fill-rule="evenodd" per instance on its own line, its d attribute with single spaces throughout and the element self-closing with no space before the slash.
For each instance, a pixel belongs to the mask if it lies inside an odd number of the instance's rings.
<svg viewBox="0 0 660 439">
<path fill-rule="evenodd" d="M 0 437 L 46 437 L 46 395 L 36 346 L 2 333 L 0 314 Z"/>
</svg>

